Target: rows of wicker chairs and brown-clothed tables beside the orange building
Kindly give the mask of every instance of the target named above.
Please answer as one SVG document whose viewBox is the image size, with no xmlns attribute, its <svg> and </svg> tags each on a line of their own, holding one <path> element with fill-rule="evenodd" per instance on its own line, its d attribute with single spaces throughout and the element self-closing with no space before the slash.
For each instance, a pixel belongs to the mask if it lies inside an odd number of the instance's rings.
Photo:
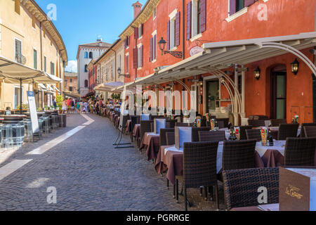
<svg viewBox="0 0 316 225">
<path fill-rule="evenodd" d="M 114 127 L 131 136 L 157 175 L 166 177 L 166 186 L 173 186 L 173 198 L 185 210 L 195 204 L 189 189 L 199 191 L 202 200 L 211 200 L 215 210 L 262 210 L 257 200 L 259 186 L 268 188 L 268 204 L 279 203 L 279 167 L 315 167 L 316 124 L 287 124 L 261 115 L 251 117 L 245 126 L 233 127 L 228 118 L 206 121 L 198 117 L 201 119 L 185 123 L 182 117 L 181 122 L 170 116 L 150 115 L 148 120 L 135 115 L 120 117 L 119 110 L 112 107 L 104 112 Z M 117 125 L 120 118 L 121 128 Z M 157 118 L 166 120 L 159 132 L 154 131 Z M 180 128 L 192 131 L 183 148 L 176 147 L 176 129 Z M 272 143 L 263 141 L 262 128 L 268 128 Z M 224 196 L 218 195 L 222 187 Z M 223 202 L 224 208 L 220 207 Z"/>
</svg>

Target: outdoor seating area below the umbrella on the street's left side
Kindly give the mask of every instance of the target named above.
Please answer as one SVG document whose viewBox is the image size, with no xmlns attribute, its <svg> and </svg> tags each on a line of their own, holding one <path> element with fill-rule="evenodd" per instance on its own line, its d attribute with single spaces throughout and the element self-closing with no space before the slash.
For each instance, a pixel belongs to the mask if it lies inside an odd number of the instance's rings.
<svg viewBox="0 0 316 225">
<path fill-rule="evenodd" d="M 66 115 L 58 114 L 58 110 L 37 112 L 37 118 L 39 129 L 33 132 L 29 112 L 0 112 L 1 149 L 19 148 L 23 143 L 41 140 L 46 134 L 67 125 Z"/>
</svg>

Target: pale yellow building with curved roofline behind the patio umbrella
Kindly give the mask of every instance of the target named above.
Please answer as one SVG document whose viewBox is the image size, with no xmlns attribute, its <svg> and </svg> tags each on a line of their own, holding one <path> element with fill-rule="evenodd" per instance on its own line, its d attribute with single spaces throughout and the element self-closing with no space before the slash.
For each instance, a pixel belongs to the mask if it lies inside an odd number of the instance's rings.
<svg viewBox="0 0 316 225">
<path fill-rule="evenodd" d="M 60 78 L 67 65 L 62 37 L 34 0 L 0 0 L 0 56 Z M 23 103 L 27 103 L 26 91 L 34 91 L 37 106 L 43 107 L 61 93 L 62 84 L 23 84 Z M 1 109 L 17 108 L 20 85 L 1 82 L 0 101 Z"/>
</svg>

